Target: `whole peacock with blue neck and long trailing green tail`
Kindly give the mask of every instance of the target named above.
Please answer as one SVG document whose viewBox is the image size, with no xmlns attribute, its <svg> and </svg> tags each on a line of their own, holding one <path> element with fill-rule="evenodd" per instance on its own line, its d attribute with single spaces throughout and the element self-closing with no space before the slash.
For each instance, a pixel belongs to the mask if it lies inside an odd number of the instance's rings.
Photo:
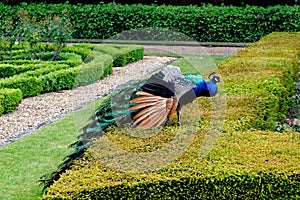
<svg viewBox="0 0 300 200">
<path fill-rule="evenodd" d="M 49 187 L 74 160 L 81 158 L 91 145 L 91 139 L 101 137 L 112 125 L 149 129 L 167 126 L 170 116 L 176 112 L 177 124 L 181 125 L 182 107 L 197 97 L 212 97 L 218 92 L 221 78 L 211 73 L 208 81 L 201 75 L 182 74 L 179 67 L 168 65 L 148 78 L 130 81 L 109 94 L 95 110 L 92 122 L 83 128 L 79 140 L 71 147 L 58 170 L 41 177 L 44 188 Z"/>
</svg>

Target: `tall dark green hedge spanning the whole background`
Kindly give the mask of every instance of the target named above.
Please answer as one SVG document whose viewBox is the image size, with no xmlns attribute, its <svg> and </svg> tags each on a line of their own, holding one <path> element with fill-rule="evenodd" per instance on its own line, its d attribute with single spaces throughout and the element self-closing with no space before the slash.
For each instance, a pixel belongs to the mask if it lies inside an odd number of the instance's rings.
<svg viewBox="0 0 300 200">
<path fill-rule="evenodd" d="M 0 4 L 1 24 L 8 17 L 17 20 L 16 13 L 21 8 L 26 8 L 37 20 L 67 9 L 74 24 L 72 36 L 77 39 L 108 39 L 123 31 L 157 27 L 178 31 L 199 42 L 254 42 L 275 31 L 300 30 L 299 6 Z M 125 39 L 173 41 L 181 39 L 178 37 L 158 31 L 152 35 L 131 34 Z"/>
</svg>

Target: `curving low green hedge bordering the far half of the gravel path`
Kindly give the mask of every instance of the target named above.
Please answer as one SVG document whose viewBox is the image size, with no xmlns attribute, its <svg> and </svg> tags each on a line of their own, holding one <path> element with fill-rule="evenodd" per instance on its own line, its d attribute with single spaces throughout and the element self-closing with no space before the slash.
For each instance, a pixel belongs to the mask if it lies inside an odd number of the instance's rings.
<svg viewBox="0 0 300 200">
<path fill-rule="evenodd" d="M 81 53 L 85 58 L 84 64 L 73 69 L 58 70 L 41 77 L 44 83 L 44 92 L 73 89 L 94 83 L 111 74 L 113 66 L 124 66 L 140 60 L 144 56 L 144 48 L 136 45 L 76 44 L 66 49 L 76 52 L 82 48 L 87 49 Z M 67 51 L 66 49 L 64 51 Z"/>
</svg>

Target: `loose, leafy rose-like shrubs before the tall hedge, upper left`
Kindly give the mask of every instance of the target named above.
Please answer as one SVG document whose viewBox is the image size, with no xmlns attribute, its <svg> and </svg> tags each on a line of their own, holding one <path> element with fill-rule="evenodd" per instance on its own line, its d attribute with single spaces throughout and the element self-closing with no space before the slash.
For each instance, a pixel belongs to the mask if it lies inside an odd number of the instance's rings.
<svg viewBox="0 0 300 200">
<path fill-rule="evenodd" d="M 15 15 L 5 18 L 6 25 L 0 30 L 0 39 L 4 43 L 0 45 L 0 50 L 4 52 L 0 59 L 22 57 L 42 60 L 45 53 L 51 49 L 53 54 L 50 60 L 56 60 L 66 42 L 71 39 L 73 31 L 67 10 L 62 10 L 60 14 L 50 12 L 43 18 L 38 18 L 30 15 L 24 7 L 18 8 Z M 43 40 L 47 42 L 43 44 Z M 13 57 L 13 47 L 16 43 L 20 44 L 22 54 Z"/>
</svg>

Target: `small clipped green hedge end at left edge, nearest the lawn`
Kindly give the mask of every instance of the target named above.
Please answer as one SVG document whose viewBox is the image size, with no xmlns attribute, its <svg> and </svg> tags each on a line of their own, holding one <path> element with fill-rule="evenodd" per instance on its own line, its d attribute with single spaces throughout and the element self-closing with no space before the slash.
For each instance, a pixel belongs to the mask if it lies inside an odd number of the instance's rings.
<svg viewBox="0 0 300 200">
<path fill-rule="evenodd" d="M 20 89 L 0 89 L 0 115 L 15 111 L 15 107 L 22 101 Z"/>
</svg>

